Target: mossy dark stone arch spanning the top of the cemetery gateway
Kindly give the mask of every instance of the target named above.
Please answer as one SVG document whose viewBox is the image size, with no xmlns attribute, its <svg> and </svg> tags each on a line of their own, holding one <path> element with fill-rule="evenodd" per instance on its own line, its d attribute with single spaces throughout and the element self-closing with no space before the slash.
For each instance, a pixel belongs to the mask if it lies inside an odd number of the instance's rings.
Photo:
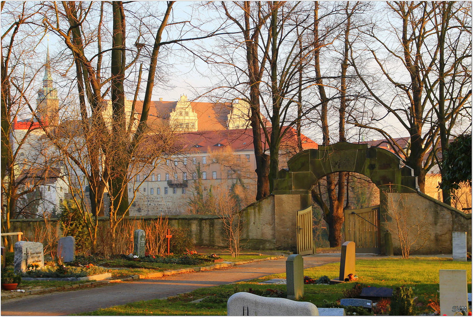
<svg viewBox="0 0 473 317">
<path fill-rule="evenodd" d="M 317 181 L 333 172 L 357 172 L 368 176 L 380 190 L 418 192 L 417 177 L 401 158 L 368 144 L 338 142 L 299 152 L 278 172 L 273 194 L 310 194 Z"/>
</svg>

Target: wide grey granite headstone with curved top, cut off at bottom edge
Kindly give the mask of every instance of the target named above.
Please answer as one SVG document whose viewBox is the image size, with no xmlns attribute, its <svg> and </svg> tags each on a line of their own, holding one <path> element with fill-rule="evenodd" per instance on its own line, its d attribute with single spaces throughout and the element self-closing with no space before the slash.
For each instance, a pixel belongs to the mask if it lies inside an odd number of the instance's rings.
<svg viewBox="0 0 473 317">
<path fill-rule="evenodd" d="M 309 302 L 239 292 L 228 299 L 227 316 L 319 316 L 319 312 Z"/>
</svg>

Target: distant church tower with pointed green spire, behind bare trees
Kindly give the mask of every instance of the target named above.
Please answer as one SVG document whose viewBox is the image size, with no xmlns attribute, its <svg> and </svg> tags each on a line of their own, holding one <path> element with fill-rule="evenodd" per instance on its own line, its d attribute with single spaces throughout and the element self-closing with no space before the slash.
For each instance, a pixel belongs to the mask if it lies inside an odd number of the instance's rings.
<svg viewBox="0 0 473 317">
<path fill-rule="evenodd" d="M 38 91 L 36 99 L 36 113 L 44 124 L 55 127 L 59 123 L 59 100 L 58 91 L 53 87 L 51 77 L 51 64 L 49 61 L 49 45 L 46 53 L 46 64 L 44 65 L 43 88 Z"/>
</svg>

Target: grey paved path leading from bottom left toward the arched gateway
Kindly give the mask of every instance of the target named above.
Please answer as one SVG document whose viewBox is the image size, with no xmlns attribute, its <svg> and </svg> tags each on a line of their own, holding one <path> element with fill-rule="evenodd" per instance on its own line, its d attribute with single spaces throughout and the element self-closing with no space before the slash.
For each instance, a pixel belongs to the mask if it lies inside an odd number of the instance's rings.
<svg viewBox="0 0 473 317">
<path fill-rule="evenodd" d="M 357 256 L 359 259 L 360 257 Z M 257 277 L 286 272 L 284 259 L 260 261 L 221 268 L 213 271 L 168 275 L 156 280 L 141 279 L 103 287 L 74 291 L 57 291 L 1 301 L 1 315 L 51 316 L 92 311 L 138 300 L 162 299 L 202 287 L 246 281 Z M 304 256 L 304 267 L 340 261 L 340 254 Z"/>
</svg>

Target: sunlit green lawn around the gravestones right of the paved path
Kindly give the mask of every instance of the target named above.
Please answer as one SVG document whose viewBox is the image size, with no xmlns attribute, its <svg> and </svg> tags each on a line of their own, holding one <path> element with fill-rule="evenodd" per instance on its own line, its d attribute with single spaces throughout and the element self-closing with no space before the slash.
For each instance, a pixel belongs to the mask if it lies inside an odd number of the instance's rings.
<svg viewBox="0 0 473 317">
<path fill-rule="evenodd" d="M 466 270 L 468 276 L 468 291 L 472 289 L 472 264 L 471 262 L 452 262 L 445 258 L 412 258 L 404 259 L 374 259 L 357 260 L 356 270 L 359 282 L 376 287 L 398 287 L 401 285 L 411 286 L 415 296 L 419 297 L 422 304 L 418 308 L 419 313 L 428 310 L 426 304 L 428 299 L 434 298 L 438 291 L 438 270 Z M 304 270 L 304 274 L 312 278 L 328 275 L 331 279 L 338 276 L 339 263 L 325 264 L 322 266 Z M 226 315 L 227 298 L 235 287 L 240 290 L 249 288 L 266 290 L 278 288 L 286 290 L 286 285 L 259 285 L 257 282 L 271 278 L 284 278 L 285 273 L 272 274 L 251 281 L 238 282 L 236 284 L 221 285 L 216 287 L 201 288 L 191 293 L 184 294 L 175 299 L 153 299 L 140 301 L 126 305 L 103 308 L 80 315 L 117 316 L 117 315 Z M 335 285 L 304 285 L 305 297 L 302 301 L 309 301 L 322 305 L 324 299 L 335 301 L 343 298 L 343 290 L 349 289 L 354 282 L 346 282 Z M 219 296 L 220 294 L 220 296 Z M 217 295 L 217 296 L 216 296 Z M 200 303 L 190 303 L 194 299 L 210 296 L 209 299 Z"/>
</svg>

